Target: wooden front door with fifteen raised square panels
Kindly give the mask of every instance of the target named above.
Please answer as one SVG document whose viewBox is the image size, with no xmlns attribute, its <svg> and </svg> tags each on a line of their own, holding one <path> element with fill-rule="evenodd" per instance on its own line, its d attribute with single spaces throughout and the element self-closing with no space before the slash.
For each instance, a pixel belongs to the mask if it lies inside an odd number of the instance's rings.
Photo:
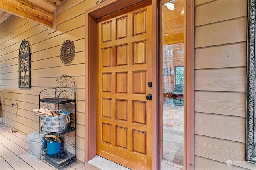
<svg viewBox="0 0 256 170">
<path fill-rule="evenodd" d="M 96 153 L 131 169 L 152 166 L 150 3 L 97 19 Z"/>
</svg>

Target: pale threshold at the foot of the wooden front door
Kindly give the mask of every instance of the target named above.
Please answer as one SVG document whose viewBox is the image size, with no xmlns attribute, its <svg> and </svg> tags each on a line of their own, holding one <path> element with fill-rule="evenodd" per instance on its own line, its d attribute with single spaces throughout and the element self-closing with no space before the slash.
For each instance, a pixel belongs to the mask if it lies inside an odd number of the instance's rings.
<svg viewBox="0 0 256 170">
<path fill-rule="evenodd" d="M 122 165 L 116 164 L 110 160 L 102 158 L 101 156 L 96 155 L 92 160 L 87 162 L 101 170 L 130 170 Z"/>
</svg>

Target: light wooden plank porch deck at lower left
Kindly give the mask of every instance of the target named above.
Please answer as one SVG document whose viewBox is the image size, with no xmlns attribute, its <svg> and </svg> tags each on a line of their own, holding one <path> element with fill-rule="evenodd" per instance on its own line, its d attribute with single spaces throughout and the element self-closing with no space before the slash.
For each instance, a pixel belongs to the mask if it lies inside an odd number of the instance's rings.
<svg viewBox="0 0 256 170">
<path fill-rule="evenodd" d="M 0 123 L 1 170 L 56 170 L 39 158 L 31 158 L 26 149 L 28 138 L 19 132 L 11 133 L 10 127 Z M 63 170 L 100 170 L 91 164 L 71 162 Z"/>
</svg>

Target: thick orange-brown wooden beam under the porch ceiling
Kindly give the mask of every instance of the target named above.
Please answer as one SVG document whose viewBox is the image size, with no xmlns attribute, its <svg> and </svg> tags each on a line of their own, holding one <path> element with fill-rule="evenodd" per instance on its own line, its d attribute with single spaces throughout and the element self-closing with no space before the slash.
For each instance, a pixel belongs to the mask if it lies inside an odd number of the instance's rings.
<svg viewBox="0 0 256 170">
<path fill-rule="evenodd" d="M 52 27 L 53 13 L 27 0 L 0 0 L 0 9 L 21 18 Z"/>
</svg>

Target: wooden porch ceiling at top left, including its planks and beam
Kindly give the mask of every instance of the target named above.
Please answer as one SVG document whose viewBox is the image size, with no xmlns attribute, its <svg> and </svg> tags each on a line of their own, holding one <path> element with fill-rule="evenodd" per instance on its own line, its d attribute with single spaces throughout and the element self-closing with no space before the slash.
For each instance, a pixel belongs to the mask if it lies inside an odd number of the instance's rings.
<svg viewBox="0 0 256 170">
<path fill-rule="evenodd" d="M 53 13 L 64 0 L 0 0 L 0 25 L 12 15 L 52 27 Z"/>
</svg>

